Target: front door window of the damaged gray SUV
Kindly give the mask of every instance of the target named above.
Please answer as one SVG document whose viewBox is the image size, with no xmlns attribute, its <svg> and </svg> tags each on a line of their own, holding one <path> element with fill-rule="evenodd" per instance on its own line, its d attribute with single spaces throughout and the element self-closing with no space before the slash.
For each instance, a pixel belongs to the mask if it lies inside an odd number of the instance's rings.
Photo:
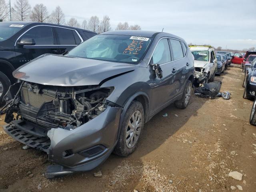
<svg viewBox="0 0 256 192">
<path fill-rule="evenodd" d="M 154 64 L 164 64 L 171 61 L 170 47 L 167 39 L 161 39 L 152 56 Z"/>
</svg>

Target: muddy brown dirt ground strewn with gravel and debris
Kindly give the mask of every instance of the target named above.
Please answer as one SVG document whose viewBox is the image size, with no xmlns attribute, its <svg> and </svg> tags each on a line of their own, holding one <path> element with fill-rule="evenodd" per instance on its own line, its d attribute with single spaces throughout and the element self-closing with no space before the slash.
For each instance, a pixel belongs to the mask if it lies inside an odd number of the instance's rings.
<svg viewBox="0 0 256 192">
<path fill-rule="evenodd" d="M 232 65 L 215 81 L 230 91 L 230 100 L 193 95 L 184 110 L 170 105 L 145 125 L 129 157 L 111 155 L 90 172 L 53 180 L 43 175 L 50 164 L 46 154 L 22 150 L 1 127 L 0 192 L 220 192 L 236 185 L 255 192 L 256 127 L 249 124 L 253 102 L 242 98 L 243 74 Z M 103 176 L 94 177 L 99 170 Z M 228 177 L 230 171 L 242 173 L 242 181 Z"/>
</svg>

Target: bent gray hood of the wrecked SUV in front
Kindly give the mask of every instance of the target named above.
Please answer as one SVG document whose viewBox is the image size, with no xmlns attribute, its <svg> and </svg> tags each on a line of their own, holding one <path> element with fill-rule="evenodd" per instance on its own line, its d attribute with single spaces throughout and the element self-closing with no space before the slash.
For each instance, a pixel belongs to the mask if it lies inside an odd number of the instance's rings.
<svg viewBox="0 0 256 192">
<path fill-rule="evenodd" d="M 134 64 L 44 54 L 16 69 L 15 78 L 54 86 L 98 85 L 106 78 L 135 70 Z"/>
</svg>

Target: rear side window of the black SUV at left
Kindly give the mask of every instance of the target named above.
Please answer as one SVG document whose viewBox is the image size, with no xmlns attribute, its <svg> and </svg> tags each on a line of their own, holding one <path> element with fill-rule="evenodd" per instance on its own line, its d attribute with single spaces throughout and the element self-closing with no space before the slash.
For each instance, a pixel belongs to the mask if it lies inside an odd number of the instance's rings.
<svg viewBox="0 0 256 192">
<path fill-rule="evenodd" d="M 56 27 L 56 33 L 58 35 L 58 44 L 59 45 L 77 45 L 81 42 L 78 40 L 78 35 L 75 36 L 75 31 L 65 28 Z M 77 42 L 76 42 L 77 41 Z"/>
</svg>

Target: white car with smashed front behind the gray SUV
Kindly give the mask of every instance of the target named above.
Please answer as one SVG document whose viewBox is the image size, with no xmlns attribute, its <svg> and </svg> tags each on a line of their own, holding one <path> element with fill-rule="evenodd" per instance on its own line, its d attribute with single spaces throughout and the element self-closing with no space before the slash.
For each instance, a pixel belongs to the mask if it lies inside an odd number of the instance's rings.
<svg viewBox="0 0 256 192">
<path fill-rule="evenodd" d="M 194 55 L 194 78 L 198 84 L 213 81 L 217 68 L 217 59 L 214 48 L 211 46 L 192 45 L 189 46 Z"/>
</svg>

